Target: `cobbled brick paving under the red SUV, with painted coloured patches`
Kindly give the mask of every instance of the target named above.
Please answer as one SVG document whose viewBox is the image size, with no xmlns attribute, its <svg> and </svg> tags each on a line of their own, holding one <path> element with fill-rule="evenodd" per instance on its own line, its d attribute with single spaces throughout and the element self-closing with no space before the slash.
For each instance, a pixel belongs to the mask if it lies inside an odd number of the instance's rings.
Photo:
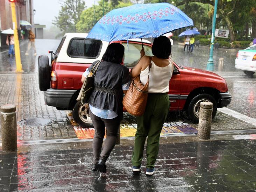
<svg viewBox="0 0 256 192">
<path fill-rule="evenodd" d="M 43 92 L 38 88 L 36 73 L 1 74 L 0 105 L 14 104 L 17 106 L 17 121 L 29 118 L 52 120 L 47 126 L 27 126 L 18 123 L 17 136 L 19 141 L 44 140 L 58 138 L 92 138 L 93 129 L 79 127 L 72 118 L 70 111 L 58 111 L 55 107 L 44 104 Z M 121 136 L 134 136 L 136 118 L 129 113 L 124 114 L 121 124 Z M 162 130 L 162 135 L 197 133 L 198 125 L 191 122 L 184 112 L 170 113 Z M 255 126 L 217 112 L 212 130 L 253 129 Z"/>
</svg>

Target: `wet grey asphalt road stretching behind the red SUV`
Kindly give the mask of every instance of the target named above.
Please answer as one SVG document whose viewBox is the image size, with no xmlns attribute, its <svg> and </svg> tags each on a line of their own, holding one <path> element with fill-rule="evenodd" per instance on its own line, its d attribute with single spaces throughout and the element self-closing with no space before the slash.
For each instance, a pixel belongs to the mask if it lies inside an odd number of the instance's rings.
<svg viewBox="0 0 256 192">
<path fill-rule="evenodd" d="M 48 55 L 48 50 L 56 50 L 60 40 L 36 40 L 37 56 L 30 50 L 29 56 L 24 53 L 27 49 L 27 42 L 21 42 L 21 61 L 24 72 L 35 72 L 38 70 L 37 58 L 40 55 Z M 214 51 L 214 71 L 224 77 L 228 84 L 229 92 L 232 93 L 232 102 L 228 106 L 241 114 L 256 118 L 256 74 L 253 77 L 246 76 L 241 70 L 235 69 L 235 58 L 237 50 L 219 49 Z M 219 57 L 224 58 L 222 69 L 218 67 Z M 195 48 L 193 53 L 183 51 L 183 46 L 177 42 L 172 47 L 172 59 L 178 65 L 190 66 L 199 69 L 206 69 L 209 58 L 209 47 L 200 46 Z M 0 73 L 15 71 L 15 58 L 8 57 L 7 51 L 0 53 Z"/>
</svg>

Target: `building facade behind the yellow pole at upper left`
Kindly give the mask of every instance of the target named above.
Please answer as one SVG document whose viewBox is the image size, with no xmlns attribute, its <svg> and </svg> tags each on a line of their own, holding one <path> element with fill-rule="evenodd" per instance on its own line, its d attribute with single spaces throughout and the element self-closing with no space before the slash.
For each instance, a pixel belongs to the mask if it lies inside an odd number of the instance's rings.
<svg viewBox="0 0 256 192">
<path fill-rule="evenodd" d="M 25 20 L 34 25 L 33 0 L 16 0 L 17 28 L 20 28 L 20 20 Z M 13 29 L 12 10 L 9 0 L 0 0 L 0 31 Z M 6 35 L 0 33 L 0 47 L 6 45 Z M 1 46 L 2 45 L 2 46 Z"/>
</svg>

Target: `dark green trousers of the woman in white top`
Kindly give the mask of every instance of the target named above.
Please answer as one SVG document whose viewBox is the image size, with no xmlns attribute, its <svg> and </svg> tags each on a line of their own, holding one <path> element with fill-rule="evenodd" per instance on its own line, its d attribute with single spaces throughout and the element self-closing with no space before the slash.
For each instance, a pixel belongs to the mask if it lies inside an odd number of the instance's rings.
<svg viewBox="0 0 256 192">
<path fill-rule="evenodd" d="M 147 168 L 154 168 L 159 150 L 160 133 L 168 115 L 170 100 L 168 94 L 149 93 L 144 115 L 137 117 L 137 131 L 134 151 L 131 157 L 133 166 L 140 166 L 145 140 L 147 140 Z"/>
</svg>

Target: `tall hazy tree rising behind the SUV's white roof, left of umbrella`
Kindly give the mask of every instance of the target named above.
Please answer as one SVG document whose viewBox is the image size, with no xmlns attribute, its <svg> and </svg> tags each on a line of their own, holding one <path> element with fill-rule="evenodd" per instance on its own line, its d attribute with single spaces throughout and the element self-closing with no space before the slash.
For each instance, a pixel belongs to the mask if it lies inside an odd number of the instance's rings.
<svg viewBox="0 0 256 192">
<path fill-rule="evenodd" d="M 83 0 L 64 0 L 59 15 L 52 22 L 63 32 L 77 32 L 76 24 L 85 9 Z"/>
</svg>

